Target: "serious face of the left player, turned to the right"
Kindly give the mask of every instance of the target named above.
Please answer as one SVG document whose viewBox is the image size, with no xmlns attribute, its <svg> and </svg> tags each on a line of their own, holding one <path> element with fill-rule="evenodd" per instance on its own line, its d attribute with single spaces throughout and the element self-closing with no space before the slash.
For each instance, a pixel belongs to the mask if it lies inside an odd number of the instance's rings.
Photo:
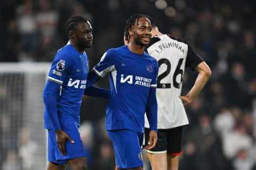
<svg viewBox="0 0 256 170">
<path fill-rule="evenodd" d="M 92 26 L 89 21 L 78 23 L 74 30 L 74 40 L 78 48 L 92 47 Z"/>
</svg>

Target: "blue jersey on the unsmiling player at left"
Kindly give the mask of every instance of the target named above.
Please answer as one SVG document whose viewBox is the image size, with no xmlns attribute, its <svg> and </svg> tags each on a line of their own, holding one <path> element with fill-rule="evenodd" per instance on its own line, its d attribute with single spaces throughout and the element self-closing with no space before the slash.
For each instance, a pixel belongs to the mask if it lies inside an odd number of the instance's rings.
<svg viewBox="0 0 256 170">
<path fill-rule="evenodd" d="M 80 125 L 80 108 L 88 75 L 86 53 L 79 53 L 71 44 L 58 50 L 47 80 L 60 83 L 57 111 L 61 126 Z M 44 126 L 52 129 L 49 116 L 44 111 Z"/>
</svg>

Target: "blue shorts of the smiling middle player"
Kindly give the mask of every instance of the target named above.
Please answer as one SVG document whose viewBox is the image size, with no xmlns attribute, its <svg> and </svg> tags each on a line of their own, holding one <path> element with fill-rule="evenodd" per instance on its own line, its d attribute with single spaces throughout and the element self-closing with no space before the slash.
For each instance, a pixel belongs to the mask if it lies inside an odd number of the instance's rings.
<svg viewBox="0 0 256 170">
<path fill-rule="evenodd" d="M 115 151 L 116 165 L 119 168 L 142 167 L 141 146 L 143 133 L 133 132 L 128 129 L 108 130 Z"/>
</svg>

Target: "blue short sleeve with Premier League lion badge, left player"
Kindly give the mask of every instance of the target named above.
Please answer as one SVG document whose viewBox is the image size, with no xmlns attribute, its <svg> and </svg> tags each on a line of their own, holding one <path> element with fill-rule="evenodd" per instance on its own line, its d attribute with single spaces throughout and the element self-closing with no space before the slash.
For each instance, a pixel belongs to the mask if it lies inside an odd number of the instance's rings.
<svg viewBox="0 0 256 170">
<path fill-rule="evenodd" d="M 58 52 L 52 62 L 47 79 L 62 84 L 72 66 L 73 60 L 71 60 L 71 57 Z"/>
</svg>

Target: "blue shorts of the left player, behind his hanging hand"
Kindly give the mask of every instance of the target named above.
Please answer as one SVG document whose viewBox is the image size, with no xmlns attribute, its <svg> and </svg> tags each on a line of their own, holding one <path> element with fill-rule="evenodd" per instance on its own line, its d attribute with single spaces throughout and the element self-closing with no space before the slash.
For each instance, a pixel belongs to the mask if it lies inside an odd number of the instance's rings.
<svg viewBox="0 0 256 170">
<path fill-rule="evenodd" d="M 62 156 L 57 145 L 56 134 L 53 129 L 48 130 L 48 160 L 52 163 L 67 164 L 69 159 L 85 157 L 83 144 L 80 138 L 78 128 L 74 125 L 66 126 L 62 128 L 71 139 L 75 141 L 71 144 L 68 140 L 66 141 L 66 155 Z"/>
</svg>

